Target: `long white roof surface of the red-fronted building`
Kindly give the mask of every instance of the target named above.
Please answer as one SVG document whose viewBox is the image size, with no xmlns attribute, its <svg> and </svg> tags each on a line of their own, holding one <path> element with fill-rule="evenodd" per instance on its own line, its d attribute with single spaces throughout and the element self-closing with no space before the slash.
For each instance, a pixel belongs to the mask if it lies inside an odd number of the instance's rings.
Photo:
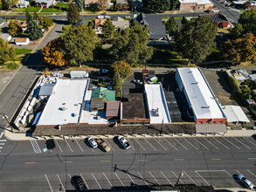
<svg viewBox="0 0 256 192">
<path fill-rule="evenodd" d="M 200 68 L 177 68 L 197 119 L 224 119 L 215 94 Z"/>
</svg>

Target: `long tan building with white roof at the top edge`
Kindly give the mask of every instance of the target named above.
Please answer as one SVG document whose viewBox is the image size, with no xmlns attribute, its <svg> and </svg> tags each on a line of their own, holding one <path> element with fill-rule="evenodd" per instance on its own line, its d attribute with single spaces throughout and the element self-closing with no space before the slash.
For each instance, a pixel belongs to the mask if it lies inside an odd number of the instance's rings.
<svg viewBox="0 0 256 192">
<path fill-rule="evenodd" d="M 210 0 L 179 0 L 181 11 L 212 10 L 213 3 Z"/>
</svg>

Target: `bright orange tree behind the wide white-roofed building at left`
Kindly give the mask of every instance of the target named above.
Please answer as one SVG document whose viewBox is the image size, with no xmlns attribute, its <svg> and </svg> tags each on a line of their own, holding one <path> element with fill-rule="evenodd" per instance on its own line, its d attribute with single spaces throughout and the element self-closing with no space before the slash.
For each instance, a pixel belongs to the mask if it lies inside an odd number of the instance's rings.
<svg viewBox="0 0 256 192">
<path fill-rule="evenodd" d="M 67 64 L 65 60 L 65 52 L 62 50 L 62 44 L 62 39 L 56 38 L 42 48 L 45 63 L 54 66 L 63 66 Z"/>
</svg>

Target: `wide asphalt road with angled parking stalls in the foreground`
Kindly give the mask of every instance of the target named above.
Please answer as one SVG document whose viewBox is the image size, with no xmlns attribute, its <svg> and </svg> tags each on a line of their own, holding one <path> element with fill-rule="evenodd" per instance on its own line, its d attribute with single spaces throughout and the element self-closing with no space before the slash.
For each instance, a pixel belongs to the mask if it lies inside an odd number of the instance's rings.
<svg viewBox="0 0 256 192">
<path fill-rule="evenodd" d="M 82 139 L 55 141 L 43 152 L 45 141 L 13 141 L 0 154 L 1 191 L 73 190 L 70 177 L 82 175 L 88 189 L 135 189 L 148 185 L 181 184 L 239 187 L 239 173 L 256 182 L 253 138 L 128 139 L 128 150 L 107 140 L 110 153 L 87 147 Z M 115 171 L 114 171 L 115 168 Z"/>
</svg>

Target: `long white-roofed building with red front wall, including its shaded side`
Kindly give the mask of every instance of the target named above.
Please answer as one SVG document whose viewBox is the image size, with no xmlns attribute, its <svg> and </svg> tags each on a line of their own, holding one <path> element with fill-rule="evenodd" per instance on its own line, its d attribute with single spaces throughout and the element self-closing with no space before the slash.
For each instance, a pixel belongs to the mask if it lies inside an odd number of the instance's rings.
<svg viewBox="0 0 256 192">
<path fill-rule="evenodd" d="M 177 68 L 175 79 L 196 124 L 225 124 L 225 113 L 200 68 Z"/>
</svg>

